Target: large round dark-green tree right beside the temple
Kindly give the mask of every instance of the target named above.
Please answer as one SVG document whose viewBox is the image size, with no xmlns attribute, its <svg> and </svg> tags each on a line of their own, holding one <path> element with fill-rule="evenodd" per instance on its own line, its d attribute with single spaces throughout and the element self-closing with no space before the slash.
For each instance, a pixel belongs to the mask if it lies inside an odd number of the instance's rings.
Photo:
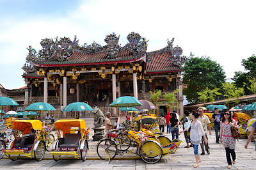
<svg viewBox="0 0 256 170">
<path fill-rule="evenodd" d="M 184 65 L 183 83 L 184 95 L 189 102 L 198 103 L 198 92 L 204 89 L 220 88 L 225 82 L 225 72 L 216 61 L 212 61 L 209 57 L 194 58 L 190 55 Z"/>
</svg>

